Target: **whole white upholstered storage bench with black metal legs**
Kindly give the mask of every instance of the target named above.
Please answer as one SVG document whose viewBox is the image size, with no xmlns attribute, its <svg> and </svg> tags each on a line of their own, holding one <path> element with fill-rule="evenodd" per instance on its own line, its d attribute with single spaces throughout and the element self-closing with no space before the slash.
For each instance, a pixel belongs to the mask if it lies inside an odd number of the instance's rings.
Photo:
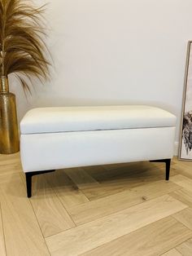
<svg viewBox="0 0 192 256">
<path fill-rule="evenodd" d="M 175 126 L 150 106 L 34 108 L 20 122 L 28 197 L 33 175 L 68 167 L 164 161 L 168 179 Z"/>
</svg>

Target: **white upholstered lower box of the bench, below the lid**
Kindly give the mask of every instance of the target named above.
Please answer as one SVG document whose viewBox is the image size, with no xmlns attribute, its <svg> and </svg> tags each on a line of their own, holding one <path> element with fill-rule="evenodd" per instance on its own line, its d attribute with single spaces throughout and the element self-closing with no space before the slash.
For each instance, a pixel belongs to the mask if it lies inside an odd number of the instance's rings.
<svg viewBox="0 0 192 256">
<path fill-rule="evenodd" d="M 21 135 L 24 171 L 172 158 L 174 127 Z"/>
</svg>

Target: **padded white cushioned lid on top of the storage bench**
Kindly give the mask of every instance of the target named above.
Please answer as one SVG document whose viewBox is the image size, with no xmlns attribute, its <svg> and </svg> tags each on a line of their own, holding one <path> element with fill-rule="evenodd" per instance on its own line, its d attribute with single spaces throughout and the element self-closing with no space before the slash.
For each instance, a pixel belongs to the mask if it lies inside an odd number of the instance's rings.
<svg viewBox="0 0 192 256">
<path fill-rule="evenodd" d="M 172 127 L 176 117 L 143 105 L 33 108 L 20 122 L 21 134 Z"/>
</svg>

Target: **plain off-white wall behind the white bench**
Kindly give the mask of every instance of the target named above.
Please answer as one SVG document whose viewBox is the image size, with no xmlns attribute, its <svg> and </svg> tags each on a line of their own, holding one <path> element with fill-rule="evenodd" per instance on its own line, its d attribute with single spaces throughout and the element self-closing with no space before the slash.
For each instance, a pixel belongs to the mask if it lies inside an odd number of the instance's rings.
<svg viewBox="0 0 192 256">
<path fill-rule="evenodd" d="M 191 0 L 50 0 L 55 71 L 28 100 L 11 79 L 19 119 L 39 106 L 151 104 L 177 115 L 178 142 L 191 10 Z"/>
</svg>

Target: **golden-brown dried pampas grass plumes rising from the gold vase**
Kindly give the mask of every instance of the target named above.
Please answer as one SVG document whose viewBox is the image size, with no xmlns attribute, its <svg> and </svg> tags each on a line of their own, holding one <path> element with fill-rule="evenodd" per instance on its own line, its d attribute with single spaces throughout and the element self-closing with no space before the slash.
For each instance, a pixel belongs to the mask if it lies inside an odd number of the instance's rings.
<svg viewBox="0 0 192 256">
<path fill-rule="evenodd" d="M 0 77 L 15 73 L 24 90 L 30 77 L 49 77 L 43 11 L 25 0 L 0 0 Z"/>
</svg>

